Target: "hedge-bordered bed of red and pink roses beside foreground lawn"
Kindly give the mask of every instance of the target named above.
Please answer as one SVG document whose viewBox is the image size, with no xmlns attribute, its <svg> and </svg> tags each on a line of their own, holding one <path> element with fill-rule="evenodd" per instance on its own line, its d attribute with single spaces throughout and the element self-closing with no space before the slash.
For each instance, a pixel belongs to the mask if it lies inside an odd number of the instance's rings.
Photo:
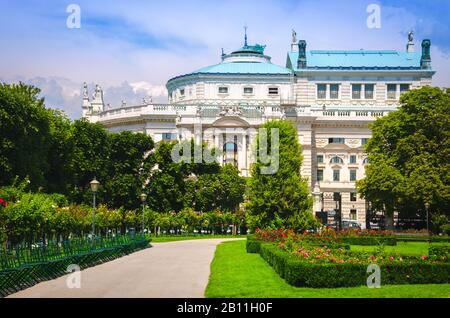
<svg viewBox="0 0 450 318">
<path fill-rule="evenodd" d="M 336 233 L 299 235 L 282 230 L 257 231 L 248 237 L 247 251 L 259 253 L 293 286 L 365 285 L 369 276 L 367 268 L 371 264 L 380 267 L 381 283 L 385 285 L 449 283 L 448 250 L 438 247 L 436 252 L 430 250 L 429 257 L 412 257 L 386 254 L 382 245 L 373 253 L 353 252 L 341 242 Z"/>
</svg>

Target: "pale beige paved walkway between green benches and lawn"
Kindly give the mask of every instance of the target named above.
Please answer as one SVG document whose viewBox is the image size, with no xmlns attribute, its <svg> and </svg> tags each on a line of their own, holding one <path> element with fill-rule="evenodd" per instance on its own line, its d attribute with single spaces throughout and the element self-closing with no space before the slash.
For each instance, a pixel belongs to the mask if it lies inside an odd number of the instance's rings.
<svg viewBox="0 0 450 318">
<path fill-rule="evenodd" d="M 79 289 L 67 287 L 66 275 L 9 297 L 204 297 L 216 246 L 227 240 L 232 239 L 153 243 L 83 270 Z"/>
</svg>

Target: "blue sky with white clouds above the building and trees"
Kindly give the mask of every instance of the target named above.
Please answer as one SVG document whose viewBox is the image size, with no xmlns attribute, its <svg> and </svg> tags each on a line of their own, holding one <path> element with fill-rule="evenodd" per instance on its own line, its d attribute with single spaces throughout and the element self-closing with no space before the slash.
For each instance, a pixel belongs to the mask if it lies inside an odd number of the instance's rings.
<svg viewBox="0 0 450 318">
<path fill-rule="evenodd" d="M 80 8 L 69 28 L 68 6 Z M 368 26 L 380 9 L 379 25 Z M 372 21 L 372 20 L 371 20 Z M 432 43 L 433 84 L 450 87 L 450 0 L 0 0 L 0 82 L 42 90 L 46 105 L 81 116 L 81 88 L 104 89 L 106 103 L 166 102 L 166 82 L 220 62 L 244 41 L 267 45 L 285 65 L 291 30 L 307 49 L 405 50 Z M 70 24 L 70 23 L 69 23 Z"/>
</svg>

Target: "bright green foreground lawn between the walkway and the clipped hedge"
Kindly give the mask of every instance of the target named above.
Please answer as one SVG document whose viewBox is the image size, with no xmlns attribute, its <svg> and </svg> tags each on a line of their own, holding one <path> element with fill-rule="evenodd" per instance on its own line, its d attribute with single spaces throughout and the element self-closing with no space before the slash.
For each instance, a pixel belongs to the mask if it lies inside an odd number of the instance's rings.
<svg viewBox="0 0 450 318">
<path fill-rule="evenodd" d="M 292 287 L 259 254 L 248 254 L 245 243 L 245 240 L 224 242 L 217 247 L 206 297 L 450 297 L 450 284 L 387 285 L 378 289 L 366 286 L 334 289 Z"/>
</svg>

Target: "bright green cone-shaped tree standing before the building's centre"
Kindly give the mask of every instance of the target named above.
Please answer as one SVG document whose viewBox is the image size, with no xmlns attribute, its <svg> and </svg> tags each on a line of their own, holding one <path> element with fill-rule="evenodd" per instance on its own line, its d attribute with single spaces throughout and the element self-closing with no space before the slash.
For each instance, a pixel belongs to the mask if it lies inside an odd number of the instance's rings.
<svg viewBox="0 0 450 318">
<path fill-rule="evenodd" d="M 267 147 L 260 143 L 258 134 L 256 144 L 256 163 L 252 166 L 252 176 L 248 185 L 250 227 L 280 227 L 305 230 L 315 226 L 312 215 L 312 198 L 308 184 L 300 175 L 303 160 L 297 131 L 288 121 L 271 121 L 262 126 L 267 129 Z M 279 134 L 279 142 L 272 141 L 272 135 Z M 276 139 L 274 139 L 276 141 Z M 261 153 L 273 153 L 270 163 L 278 169 L 265 174 Z M 276 158 L 278 156 L 278 159 Z"/>
</svg>

